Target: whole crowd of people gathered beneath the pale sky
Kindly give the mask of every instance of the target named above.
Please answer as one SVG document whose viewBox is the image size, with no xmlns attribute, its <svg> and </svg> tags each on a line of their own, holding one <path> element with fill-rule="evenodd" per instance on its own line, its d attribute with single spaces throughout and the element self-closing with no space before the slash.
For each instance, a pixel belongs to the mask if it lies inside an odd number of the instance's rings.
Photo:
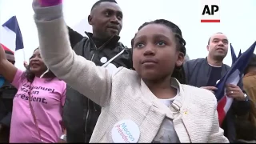
<svg viewBox="0 0 256 144">
<path fill-rule="evenodd" d="M 0 142 L 256 142 L 256 55 L 219 124 L 216 83 L 229 40 L 210 36 L 206 58 L 190 60 L 182 30 L 165 19 L 145 22 L 119 42 L 122 10 L 99 0 L 83 37 L 66 26 L 62 0 L 34 0 L 39 46 L 15 66 L 0 47 Z"/>
</svg>

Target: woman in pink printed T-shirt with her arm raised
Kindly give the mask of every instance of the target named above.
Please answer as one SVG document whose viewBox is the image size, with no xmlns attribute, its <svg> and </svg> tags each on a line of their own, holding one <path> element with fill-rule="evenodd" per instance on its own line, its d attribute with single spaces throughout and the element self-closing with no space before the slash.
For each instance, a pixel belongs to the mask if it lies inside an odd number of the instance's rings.
<svg viewBox="0 0 256 144">
<path fill-rule="evenodd" d="M 0 74 L 18 89 L 14 97 L 10 142 L 59 142 L 66 83 L 59 80 L 34 50 L 26 72 L 6 60 L 0 47 Z M 40 78 L 42 76 L 42 78 Z"/>
</svg>

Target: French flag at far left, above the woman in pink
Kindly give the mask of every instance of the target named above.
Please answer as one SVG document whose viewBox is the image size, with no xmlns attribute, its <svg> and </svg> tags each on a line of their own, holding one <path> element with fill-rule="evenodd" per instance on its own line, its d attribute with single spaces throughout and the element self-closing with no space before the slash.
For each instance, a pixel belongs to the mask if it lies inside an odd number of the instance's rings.
<svg viewBox="0 0 256 144">
<path fill-rule="evenodd" d="M 0 44 L 4 50 L 15 52 L 24 48 L 22 33 L 16 16 L 11 17 L 0 27 Z"/>
</svg>

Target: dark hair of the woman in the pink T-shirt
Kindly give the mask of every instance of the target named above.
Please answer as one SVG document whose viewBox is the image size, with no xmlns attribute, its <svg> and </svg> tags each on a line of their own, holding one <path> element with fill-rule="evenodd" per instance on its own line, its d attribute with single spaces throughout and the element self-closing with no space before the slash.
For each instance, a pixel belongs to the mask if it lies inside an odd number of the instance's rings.
<svg viewBox="0 0 256 144">
<path fill-rule="evenodd" d="M 35 50 L 38 50 L 38 49 L 39 49 L 39 48 L 36 48 Z M 35 50 L 34 50 L 34 52 L 35 52 Z M 34 53 L 34 52 L 33 52 L 33 53 Z M 56 78 L 56 76 L 54 75 L 54 73 L 51 72 L 50 70 L 49 70 L 46 74 L 44 74 L 44 75 L 45 75 L 47 78 L 50 78 L 49 80 L 52 80 L 53 78 Z M 26 67 L 26 71 L 25 71 L 23 77 L 25 77 L 28 82 L 33 82 L 33 81 L 34 81 L 35 74 L 30 71 L 30 64 Z"/>
</svg>

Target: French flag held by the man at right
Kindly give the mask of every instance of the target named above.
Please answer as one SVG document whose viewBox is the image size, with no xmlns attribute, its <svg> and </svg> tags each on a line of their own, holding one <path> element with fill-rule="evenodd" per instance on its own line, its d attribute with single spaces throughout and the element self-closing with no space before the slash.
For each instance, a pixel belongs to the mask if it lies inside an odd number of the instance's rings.
<svg viewBox="0 0 256 144">
<path fill-rule="evenodd" d="M 233 98 L 226 96 L 226 84 L 238 85 L 239 80 L 242 78 L 242 74 L 246 69 L 246 66 L 250 62 L 251 56 L 254 54 L 254 49 L 256 42 L 244 53 L 239 52 L 238 58 L 234 54 L 233 46 L 230 44 L 231 56 L 232 56 L 232 66 L 231 69 L 225 74 L 225 76 L 217 83 L 216 87 L 218 90 L 215 91 L 215 96 L 218 101 L 217 111 L 219 125 L 222 126 L 222 122 L 226 117 L 226 113 L 230 110 Z"/>
</svg>

